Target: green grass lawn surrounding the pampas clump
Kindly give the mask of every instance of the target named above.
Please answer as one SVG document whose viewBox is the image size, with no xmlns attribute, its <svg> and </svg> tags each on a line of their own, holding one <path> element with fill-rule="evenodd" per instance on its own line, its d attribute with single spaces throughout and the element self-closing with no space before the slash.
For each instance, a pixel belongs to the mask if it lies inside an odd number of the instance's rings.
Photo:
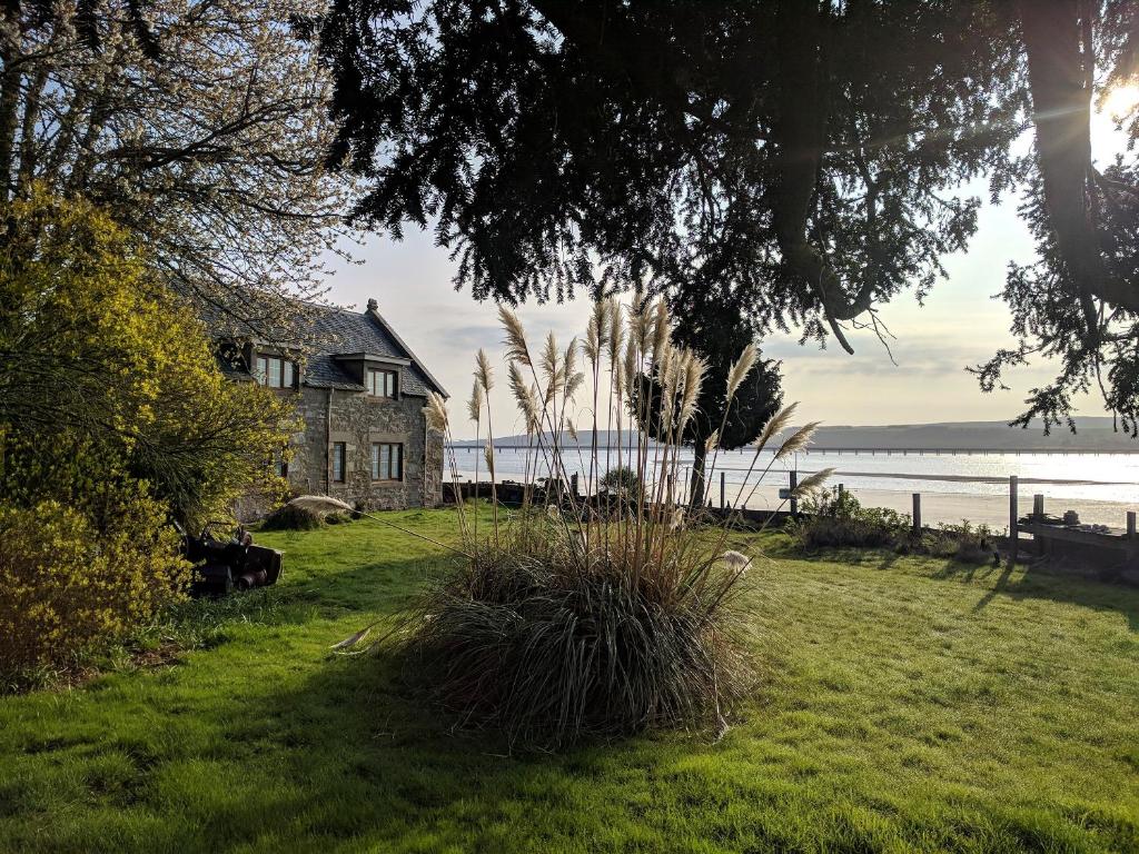
<svg viewBox="0 0 1139 854">
<path fill-rule="evenodd" d="M 367 520 L 260 540 L 282 583 L 202 608 L 178 631 L 204 648 L 0 698 L 0 849 L 1139 851 L 1133 589 L 771 539 L 762 681 L 722 740 L 510 756 L 383 654 L 328 655 L 437 549 Z"/>
</svg>

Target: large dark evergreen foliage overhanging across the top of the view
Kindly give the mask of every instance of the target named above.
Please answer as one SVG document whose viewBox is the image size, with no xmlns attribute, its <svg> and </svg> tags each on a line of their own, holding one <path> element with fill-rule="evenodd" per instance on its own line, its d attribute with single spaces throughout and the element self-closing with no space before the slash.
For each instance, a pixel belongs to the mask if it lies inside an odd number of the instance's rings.
<svg viewBox="0 0 1139 854">
<path fill-rule="evenodd" d="M 647 280 L 687 305 L 724 281 L 747 295 L 759 334 L 795 326 L 847 351 L 849 329 L 882 334 L 876 307 L 908 287 L 924 296 L 941 257 L 967 246 L 980 200 L 954 195 L 960 182 L 1031 186 L 1039 161 L 1040 228 L 1060 274 L 1098 279 L 1049 290 L 1046 258 L 1046 280 L 1010 285 L 1026 299 L 1015 328 L 1038 338 L 1011 361 L 1041 352 L 1075 366 L 1026 414 L 1063 414 L 1064 389 L 1109 366 L 1106 401 L 1131 418 L 1133 279 L 1098 268 L 1133 263 L 1118 238 L 1134 184 L 1123 170 L 1097 190 L 1118 197 L 1114 238 L 1089 229 L 1096 66 L 1080 43 L 1098 26 L 1111 80 L 1123 79 L 1139 13 L 1123 0 L 1048 6 L 1034 17 L 1027 0 L 334 0 L 321 32 L 333 158 L 369 182 L 363 222 L 395 236 L 434 222 L 476 298 Z M 1014 158 L 1033 115 L 1041 154 Z M 1097 299 L 1111 330 L 1092 330 Z"/>
</svg>

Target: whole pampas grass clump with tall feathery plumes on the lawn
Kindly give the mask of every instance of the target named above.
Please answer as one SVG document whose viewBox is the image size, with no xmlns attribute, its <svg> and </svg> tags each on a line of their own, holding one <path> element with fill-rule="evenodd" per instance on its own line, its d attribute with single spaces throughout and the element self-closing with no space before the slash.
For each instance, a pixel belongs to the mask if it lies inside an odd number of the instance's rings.
<svg viewBox="0 0 1139 854">
<path fill-rule="evenodd" d="M 710 378 L 703 360 L 672 345 L 663 301 L 649 305 L 640 293 L 628 311 L 613 298 L 597 304 L 581 343 L 582 370 L 576 342 L 563 350 L 550 335 L 532 348 L 513 312 L 502 307 L 499 318 L 506 376 L 528 441 L 525 482 L 549 478 L 552 486 L 542 502 L 528 488 L 517 510 L 494 500 L 494 367 L 480 351 L 467 414 L 486 443 L 491 518 L 480 525 L 477 508 L 458 506 L 461 545 L 446 547 L 461 557 L 457 568 L 390 637 L 460 722 L 500 729 L 511 741 L 562 747 L 663 725 L 722 730 L 751 685 L 739 642 L 746 618 L 736 608 L 751 557 L 728 549 L 738 511 L 704 518 L 675 487 L 680 437 L 696 416 L 700 386 L 723 383 L 730 405 L 756 351 L 745 350 L 728 377 Z M 661 389 L 670 429 L 663 442 L 650 444 L 634 429 L 653 407 L 629 395 L 642 376 Z M 450 440 L 444 400 L 431 395 L 424 411 L 429 428 Z M 756 437 L 737 507 L 776 461 L 810 442 L 813 425 L 761 463 L 793 412 L 776 416 Z M 564 447 L 564 435 L 584 435 L 582 418 L 589 450 L 576 441 Z M 629 441 L 599 447 L 600 429 Z M 453 453 L 448 459 L 458 482 Z M 567 467 L 588 471 L 588 498 L 564 487 Z M 606 470 L 636 479 L 636 488 L 617 491 L 616 507 L 612 492 L 598 495 Z M 801 493 L 821 479 L 809 478 Z M 367 633 L 336 648 L 351 651 Z"/>
</svg>

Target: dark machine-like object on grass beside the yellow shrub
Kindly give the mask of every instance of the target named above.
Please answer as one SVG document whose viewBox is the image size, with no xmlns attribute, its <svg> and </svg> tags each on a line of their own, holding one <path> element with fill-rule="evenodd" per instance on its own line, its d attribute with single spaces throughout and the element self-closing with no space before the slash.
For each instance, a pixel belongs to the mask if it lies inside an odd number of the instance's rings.
<svg viewBox="0 0 1139 854">
<path fill-rule="evenodd" d="M 190 594 L 224 596 L 235 590 L 276 584 L 281 575 L 281 552 L 254 545 L 253 534 L 241 527 L 231 537 L 219 539 L 213 532 L 224 524 L 207 523 L 199 536 L 192 536 L 175 524 L 182 536 L 183 555 L 194 564 Z"/>
</svg>

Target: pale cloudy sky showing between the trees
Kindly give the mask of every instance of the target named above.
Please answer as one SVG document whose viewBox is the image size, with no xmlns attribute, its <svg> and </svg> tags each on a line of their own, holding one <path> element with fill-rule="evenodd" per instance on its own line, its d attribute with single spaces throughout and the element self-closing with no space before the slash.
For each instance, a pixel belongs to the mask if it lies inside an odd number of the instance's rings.
<svg viewBox="0 0 1139 854">
<path fill-rule="evenodd" d="M 1106 115 L 1093 120 L 1096 155 L 1105 159 L 1121 138 Z M 988 184 L 960 188 L 962 196 L 984 199 L 977 232 L 968 251 L 943 258 L 945 277 L 919 306 L 912 291 L 882 306 L 879 317 L 896 336 L 891 342 L 893 362 L 870 332 L 852 331 L 854 355 L 834 342 L 825 350 L 800 345 L 795 336 L 773 336 L 763 343 L 765 358 L 782 361 L 785 402 L 798 401 L 806 419 L 828 425 L 892 425 L 931 421 L 1010 420 L 1022 411 L 1029 389 L 1054 373 L 1038 362 L 1009 372 L 1010 391 L 983 394 L 967 366 L 988 361 L 1000 347 L 1015 346 L 1008 331 L 1008 307 L 998 294 L 1010 262 L 1035 257 L 1033 240 L 1016 214 L 1017 198 L 988 202 Z M 362 245 L 346 246 L 357 263 L 327 258 L 334 276 L 328 298 L 362 309 L 375 297 L 380 313 L 427 366 L 451 395 L 452 432 L 466 437 L 473 430 L 458 425 L 470 395 L 472 370 L 480 347 L 494 358 L 505 378 L 502 332 L 497 306 L 476 303 L 468 290 L 453 286 L 456 264 L 448 251 L 434 245 L 433 235 L 409 227 L 402 241 L 372 235 Z M 585 328 L 590 305 L 585 297 L 564 304 L 526 304 L 518 315 L 532 339 L 554 331 L 562 346 Z M 505 381 L 494 389 L 492 417 L 495 434 L 521 433 Z M 1079 399 L 1079 414 L 1101 416 L 1095 397 Z"/>
</svg>

